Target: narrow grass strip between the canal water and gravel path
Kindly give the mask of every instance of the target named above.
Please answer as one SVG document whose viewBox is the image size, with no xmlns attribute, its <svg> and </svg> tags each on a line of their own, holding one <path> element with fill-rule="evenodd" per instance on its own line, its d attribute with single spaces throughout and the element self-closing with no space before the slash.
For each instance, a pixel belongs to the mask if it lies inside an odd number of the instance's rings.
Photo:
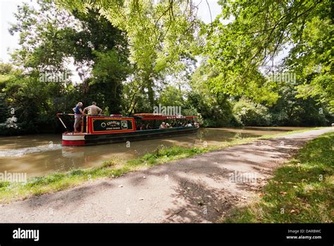
<svg viewBox="0 0 334 246">
<path fill-rule="evenodd" d="M 154 152 L 130 161 L 113 159 L 104 161 L 104 163 L 97 168 L 74 169 L 64 173 L 51 173 L 47 176 L 31 178 L 27 183 L 0 182 L 0 202 L 12 202 L 17 199 L 26 199 L 33 195 L 42 195 L 48 192 L 65 190 L 99 178 L 117 178 L 130 171 L 164 164 L 168 161 L 184 159 L 237 144 L 246 144 L 257 139 L 288 135 L 303 131 L 305 130 L 297 130 L 278 135 L 235 139 L 230 142 L 224 142 L 221 146 L 214 147 L 158 147 Z"/>
</svg>

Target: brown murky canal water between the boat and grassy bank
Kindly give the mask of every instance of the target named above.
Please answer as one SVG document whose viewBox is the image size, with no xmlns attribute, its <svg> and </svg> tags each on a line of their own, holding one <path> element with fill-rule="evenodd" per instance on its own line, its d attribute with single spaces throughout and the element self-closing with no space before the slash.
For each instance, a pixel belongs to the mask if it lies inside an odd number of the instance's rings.
<svg viewBox="0 0 334 246">
<path fill-rule="evenodd" d="M 42 176 L 55 171 L 99 166 L 111 158 L 125 160 L 152 152 L 161 144 L 185 147 L 221 145 L 236 138 L 258 137 L 305 128 L 205 128 L 194 135 L 142 140 L 124 143 L 102 144 L 87 147 L 62 147 L 61 135 L 26 135 L 0 137 L 0 173 L 27 173 L 27 177 Z"/>
</svg>

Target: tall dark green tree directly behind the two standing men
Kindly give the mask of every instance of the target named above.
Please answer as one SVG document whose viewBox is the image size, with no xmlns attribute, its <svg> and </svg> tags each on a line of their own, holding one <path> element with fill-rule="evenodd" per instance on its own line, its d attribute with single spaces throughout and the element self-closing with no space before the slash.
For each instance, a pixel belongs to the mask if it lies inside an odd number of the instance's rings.
<svg viewBox="0 0 334 246">
<path fill-rule="evenodd" d="M 16 64 L 35 77 L 70 74 L 67 63 L 73 58 L 82 79 L 79 100 L 98 101 L 107 112 L 119 113 L 122 82 L 130 71 L 125 33 L 94 10 L 68 13 L 46 0 L 39 5 L 39 12 L 27 4 L 18 7 L 18 24 L 11 27 L 12 33 L 20 33 Z"/>
</svg>

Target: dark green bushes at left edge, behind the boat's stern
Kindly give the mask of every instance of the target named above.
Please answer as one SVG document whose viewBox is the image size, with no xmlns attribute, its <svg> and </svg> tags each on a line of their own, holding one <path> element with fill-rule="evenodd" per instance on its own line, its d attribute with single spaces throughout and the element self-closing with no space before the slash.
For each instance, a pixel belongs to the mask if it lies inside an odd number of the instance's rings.
<svg viewBox="0 0 334 246">
<path fill-rule="evenodd" d="M 42 82 L 20 70 L 12 70 L 11 76 L 0 79 L 0 89 L 8 107 L 7 115 L 15 116 L 18 125 L 17 129 L 3 129 L 2 134 L 54 132 L 58 128 L 56 113 L 66 111 L 75 103 L 70 85 Z"/>
</svg>

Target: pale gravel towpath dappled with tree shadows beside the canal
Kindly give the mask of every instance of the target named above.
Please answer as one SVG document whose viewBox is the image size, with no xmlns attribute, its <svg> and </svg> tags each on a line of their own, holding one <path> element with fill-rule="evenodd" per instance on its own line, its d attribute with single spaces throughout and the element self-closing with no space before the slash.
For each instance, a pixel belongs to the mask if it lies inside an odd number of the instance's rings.
<svg viewBox="0 0 334 246">
<path fill-rule="evenodd" d="M 0 205 L 1 222 L 215 222 L 247 204 L 273 169 L 333 128 L 236 145 L 116 179 Z"/>
</svg>

